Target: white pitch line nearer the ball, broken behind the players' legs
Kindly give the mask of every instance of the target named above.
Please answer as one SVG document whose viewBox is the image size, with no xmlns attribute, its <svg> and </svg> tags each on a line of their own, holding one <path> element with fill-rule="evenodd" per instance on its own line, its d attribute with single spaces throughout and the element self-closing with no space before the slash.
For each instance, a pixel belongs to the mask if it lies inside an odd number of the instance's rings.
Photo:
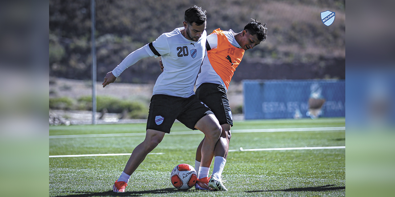
<svg viewBox="0 0 395 197">
<path fill-rule="evenodd" d="M 312 149 L 345 149 L 345 146 L 338 147 L 291 147 L 291 148 L 268 148 L 268 149 L 232 149 L 229 152 L 236 151 L 284 151 L 284 150 L 312 150 Z M 54 157 L 89 157 L 89 156 L 122 156 L 122 155 L 131 155 L 132 153 L 114 153 L 114 154 L 69 154 L 69 155 L 50 155 L 49 158 Z M 165 154 L 164 152 L 151 152 L 148 154 Z"/>
</svg>

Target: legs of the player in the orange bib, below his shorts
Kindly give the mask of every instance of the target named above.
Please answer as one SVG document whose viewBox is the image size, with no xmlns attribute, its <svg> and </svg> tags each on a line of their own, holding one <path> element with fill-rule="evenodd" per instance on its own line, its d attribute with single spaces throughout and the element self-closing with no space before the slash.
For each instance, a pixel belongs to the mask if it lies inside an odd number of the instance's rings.
<svg viewBox="0 0 395 197">
<path fill-rule="evenodd" d="M 220 139 L 216 143 L 216 147 L 214 149 L 214 169 L 213 169 L 213 175 L 210 178 L 210 183 L 209 185 L 211 188 L 214 188 L 215 190 L 222 190 L 222 191 L 227 191 L 227 189 L 224 187 L 222 184 L 221 180 L 221 175 L 222 171 L 224 170 L 224 166 L 226 163 L 226 158 L 228 157 L 228 151 L 229 151 L 229 140 L 231 138 L 231 132 L 230 132 L 230 127 L 231 125 L 229 124 L 223 124 L 221 125 L 222 127 L 222 133 L 220 136 Z M 199 172 L 199 161 L 201 160 L 201 154 L 199 154 L 201 151 L 201 146 L 203 145 L 205 141 L 205 138 L 200 142 L 198 149 L 196 150 L 196 161 L 195 161 L 195 169 L 197 172 Z M 213 158 L 211 157 L 211 160 Z M 198 173 L 198 177 L 199 173 Z"/>
</svg>

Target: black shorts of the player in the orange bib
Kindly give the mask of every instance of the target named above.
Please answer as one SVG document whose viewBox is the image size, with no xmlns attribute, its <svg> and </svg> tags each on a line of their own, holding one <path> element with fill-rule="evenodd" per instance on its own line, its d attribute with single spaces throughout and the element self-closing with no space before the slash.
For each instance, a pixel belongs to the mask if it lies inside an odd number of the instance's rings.
<svg viewBox="0 0 395 197">
<path fill-rule="evenodd" d="M 220 125 L 229 124 L 233 126 L 232 112 L 223 85 L 203 83 L 196 89 L 196 95 L 214 112 Z"/>
</svg>

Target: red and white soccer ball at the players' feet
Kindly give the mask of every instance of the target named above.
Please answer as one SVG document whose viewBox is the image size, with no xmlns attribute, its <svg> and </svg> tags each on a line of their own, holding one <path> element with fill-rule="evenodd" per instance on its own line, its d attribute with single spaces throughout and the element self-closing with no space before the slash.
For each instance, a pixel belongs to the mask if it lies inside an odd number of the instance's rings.
<svg viewBox="0 0 395 197">
<path fill-rule="evenodd" d="M 174 167 L 170 174 L 171 184 L 179 190 L 192 188 L 198 180 L 196 170 L 189 164 L 180 164 Z"/>
</svg>

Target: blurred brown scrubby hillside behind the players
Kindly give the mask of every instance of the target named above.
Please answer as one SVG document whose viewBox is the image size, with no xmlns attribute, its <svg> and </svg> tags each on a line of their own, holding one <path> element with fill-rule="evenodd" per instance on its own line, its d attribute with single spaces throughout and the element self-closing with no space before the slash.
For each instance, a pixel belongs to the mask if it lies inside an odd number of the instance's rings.
<svg viewBox="0 0 395 197">
<path fill-rule="evenodd" d="M 250 18 L 267 23 L 268 37 L 248 50 L 233 80 L 345 78 L 345 1 L 333 0 L 96 0 L 97 74 L 105 73 L 137 48 L 182 26 L 184 11 L 206 9 L 207 32 L 243 30 Z M 325 26 L 320 12 L 335 11 Z M 90 1 L 49 1 L 50 76 L 91 78 Z M 158 60 L 145 58 L 118 82 L 154 83 Z"/>
</svg>

